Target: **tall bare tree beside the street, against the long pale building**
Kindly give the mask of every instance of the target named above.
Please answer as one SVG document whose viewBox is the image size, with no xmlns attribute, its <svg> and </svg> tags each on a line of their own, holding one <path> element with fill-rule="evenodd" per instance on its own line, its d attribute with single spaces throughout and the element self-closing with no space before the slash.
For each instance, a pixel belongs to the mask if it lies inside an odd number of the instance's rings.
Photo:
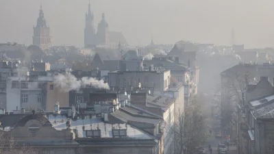
<svg viewBox="0 0 274 154">
<path fill-rule="evenodd" d="M 187 112 L 179 112 L 175 120 L 173 135 L 175 139 L 175 153 L 192 154 L 197 152 L 197 146 L 206 142 L 206 116 L 197 98 L 192 99 Z"/>
</svg>

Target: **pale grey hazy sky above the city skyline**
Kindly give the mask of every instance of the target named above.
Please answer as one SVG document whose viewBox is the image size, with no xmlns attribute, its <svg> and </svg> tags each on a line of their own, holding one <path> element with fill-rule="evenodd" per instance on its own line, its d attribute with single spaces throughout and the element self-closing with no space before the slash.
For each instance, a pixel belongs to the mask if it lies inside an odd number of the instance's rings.
<svg viewBox="0 0 274 154">
<path fill-rule="evenodd" d="M 102 12 L 111 31 L 123 31 L 129 44 L 178 40 L 274 47 L 273 0 L 90 0 L 95 26 Z M 53 45 L 84 45 L 88 0 L 0 0 L 0 42 L 32 43 L 40 4 Z"/>
</svg>

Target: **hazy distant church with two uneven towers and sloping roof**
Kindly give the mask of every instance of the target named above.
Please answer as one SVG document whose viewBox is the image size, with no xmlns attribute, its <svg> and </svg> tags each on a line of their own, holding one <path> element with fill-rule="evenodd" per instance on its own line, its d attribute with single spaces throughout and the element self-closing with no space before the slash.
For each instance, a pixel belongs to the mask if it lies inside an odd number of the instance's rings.
<svg viewBox="0 0 274 154">
<path fill-rule="evenodd" d="M 86 13 L 86 26 L 84 29 L 84 47 L 96 47 L 96 45 L 117 45 L 127 44 L 121 32 L 108 31 L 108 23 L 105 21 L 105 14 L 102 14 L 102 19 L 97 27 L 97 32 L 94 27 L 94 14 L 90 10 L 88 3 L 88 12 Z"/>
</svg>

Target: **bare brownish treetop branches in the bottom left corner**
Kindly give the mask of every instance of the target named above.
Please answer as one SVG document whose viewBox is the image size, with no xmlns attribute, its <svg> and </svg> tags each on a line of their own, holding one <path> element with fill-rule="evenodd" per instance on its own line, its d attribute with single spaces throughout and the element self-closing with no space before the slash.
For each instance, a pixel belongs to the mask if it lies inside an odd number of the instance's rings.
<svg viewBox="0 0 274 154">
<path fill-rule="evenodd" d="M 5 133 L 0 131 L 0 153 L 1 154 L 38 154 L 40 151 L 32 149 L 25 143 L 19 143 L 5 136 Z"/>
</svg>

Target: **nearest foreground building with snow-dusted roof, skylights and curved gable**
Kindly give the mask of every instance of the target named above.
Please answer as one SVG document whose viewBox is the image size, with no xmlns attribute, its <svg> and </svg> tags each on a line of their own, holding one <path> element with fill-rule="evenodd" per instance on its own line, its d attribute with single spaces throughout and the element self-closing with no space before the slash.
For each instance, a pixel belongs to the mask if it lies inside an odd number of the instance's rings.
<svg viewBox="0 0 274 154">
<path fill-rule="evenodd" d="M 56 103 L 54 108 L 54 112 L 37 114 L 0 110 L 0 131 L 40 153 L 164 151 L 164 120 L 145 110 L 121 107 L 119 99 L 98 101 L 92 107 L 60 107 Z"/>
</svg>

